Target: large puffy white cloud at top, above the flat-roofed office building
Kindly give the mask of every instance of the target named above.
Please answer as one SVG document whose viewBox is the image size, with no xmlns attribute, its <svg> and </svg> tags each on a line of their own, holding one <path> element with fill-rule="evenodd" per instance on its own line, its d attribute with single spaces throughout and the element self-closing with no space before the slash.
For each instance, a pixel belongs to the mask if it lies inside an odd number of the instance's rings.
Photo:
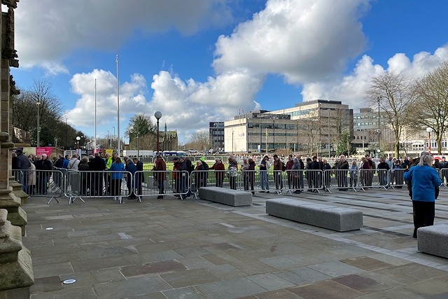
<svg viewBox="0 0 448 299">
<path fill-rule="evenodd" d="M 216 43 L 218 74 L 241 67 L 276 73 L 288 83 L 327 78 L 365 46 L 360 14 L 367 1 L 271 0 Z"/>
</svg>

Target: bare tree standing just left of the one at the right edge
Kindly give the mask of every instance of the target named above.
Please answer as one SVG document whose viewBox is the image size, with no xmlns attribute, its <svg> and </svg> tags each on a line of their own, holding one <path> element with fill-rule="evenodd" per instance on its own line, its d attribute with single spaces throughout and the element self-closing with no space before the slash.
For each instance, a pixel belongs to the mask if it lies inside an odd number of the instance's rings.
<svg viewBox="0 0 448 299">
<path fill-rule="evenodd" d="M 412 104 L 409 78 L 393 71 L 372 77 L 366 92 L 366 102 L 369 106 L 379 105 L 383 111 L 386 123 L 395 137 L 395 157 L 399 157 L 400 136 L 402 128 L 408 123 L 409 107 Z"/>
</svg>

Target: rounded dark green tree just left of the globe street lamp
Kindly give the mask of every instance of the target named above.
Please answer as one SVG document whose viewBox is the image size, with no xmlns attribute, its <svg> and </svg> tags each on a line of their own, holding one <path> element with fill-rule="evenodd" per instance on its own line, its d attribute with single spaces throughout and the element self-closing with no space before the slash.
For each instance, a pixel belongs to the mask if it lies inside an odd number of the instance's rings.
<svg viewBox="0 0 448 299">
<path fill-rule="evenodd" d="M 149 149 L 157 147 L 157 127 L 151 121 L 151 116 L 138 113 L 130 119 L 125 131 L 125 136 L 130 139 L 130 147 Z"/>
</svg>

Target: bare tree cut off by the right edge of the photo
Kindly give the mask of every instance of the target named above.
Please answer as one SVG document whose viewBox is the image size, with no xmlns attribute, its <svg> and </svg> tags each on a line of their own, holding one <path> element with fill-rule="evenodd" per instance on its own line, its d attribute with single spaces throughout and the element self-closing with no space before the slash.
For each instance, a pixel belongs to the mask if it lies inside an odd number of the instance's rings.
<svg viewBox="0 0 448 299">
<path fill-rule="evenodd" d="M 412 88 L 416 106 L 423 109 L 409 109 L 411 125 L 415 128 L 430 127 L 437 141 L 437 153 L 442 153 L 442 136 L 448 126 L 448 62 L 444 62 L 417 80 Z"/>
</svg>

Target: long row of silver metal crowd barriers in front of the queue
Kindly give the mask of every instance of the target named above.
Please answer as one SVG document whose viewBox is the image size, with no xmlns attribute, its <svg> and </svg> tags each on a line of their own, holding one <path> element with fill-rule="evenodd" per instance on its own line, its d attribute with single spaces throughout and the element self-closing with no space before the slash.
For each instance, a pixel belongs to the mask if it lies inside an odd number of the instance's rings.
<svg viewBox="0 0 448 299">
<path fill-rule="evenodd" d="M 14 170 L 15 179 L 22 183 L 22 190 L 30 196 L 50 197 L 59 202 L 60 197 L 69 198 L 69 204 L 75 200 L 85 202 L 86 197 L 104 197 L 118 200 L 137 200 L 142 197 L 162 199 L 165 195 L 174 195 L 183 200 L 193 196 L 197 198 L 199 188 L 218 186 L 255 192 L 276 194 L 302 193 L 304 191 L 320 193 L 339 191 L 366 191 L 370 188 L 402 188 L 405 169 L 288 169 L 286 172 L 243 170 L 200 170 L 151 171 L 144 170 L 134 174 L 123 172 L 52 170 Z M 447 186 L 448 169 L 439 170 L 443 185 Z"/>
</svg>

